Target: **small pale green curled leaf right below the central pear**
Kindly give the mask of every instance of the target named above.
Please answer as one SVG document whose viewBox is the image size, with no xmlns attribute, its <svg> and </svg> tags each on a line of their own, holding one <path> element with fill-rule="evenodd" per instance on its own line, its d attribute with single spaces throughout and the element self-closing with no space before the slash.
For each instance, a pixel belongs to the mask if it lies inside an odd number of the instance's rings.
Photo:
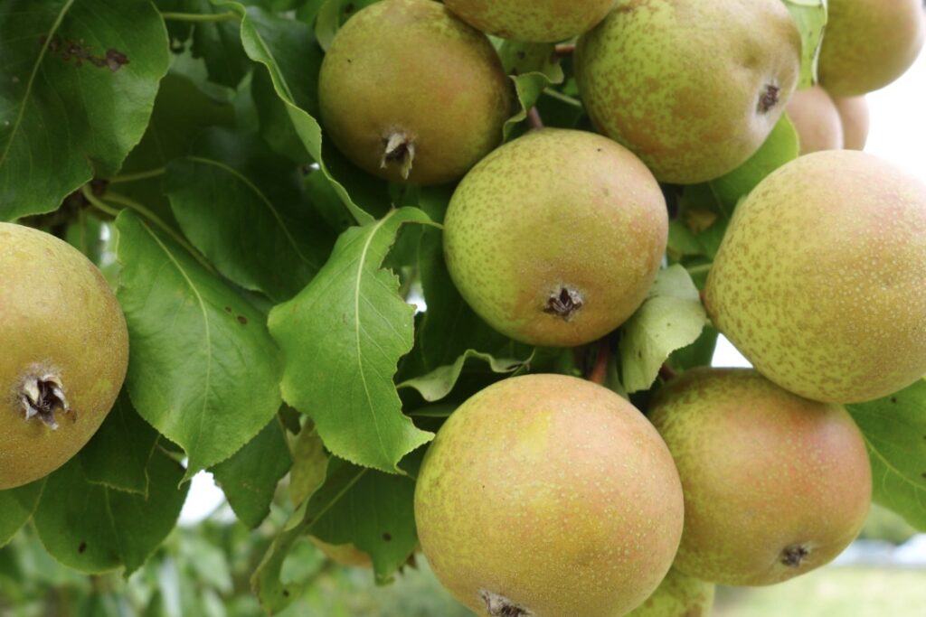
<svg viewBox="0 0 926 617">
<path fill-rule="evenodd" d="M 648 389 L 669 353 L 692 344 L 707 325 L 707 313 L 681 265 L 661 270 L 643 305 L 623 326 L 620 364 L 627 392 Z"/>
</svg>

